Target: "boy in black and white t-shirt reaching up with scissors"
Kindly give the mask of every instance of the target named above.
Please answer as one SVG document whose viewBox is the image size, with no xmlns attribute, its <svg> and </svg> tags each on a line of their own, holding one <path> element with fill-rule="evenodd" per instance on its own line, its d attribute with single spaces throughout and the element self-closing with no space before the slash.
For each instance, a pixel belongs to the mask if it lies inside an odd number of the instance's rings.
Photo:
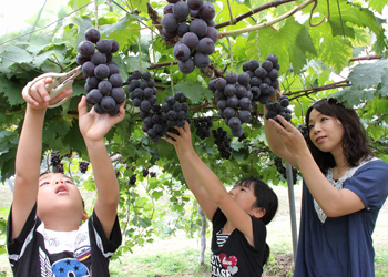
<svg viewBox="0 0 388 277">
<path fill-rule="evenodd" d="M 109 260 L 122 236 L 118 220 L 119 184 L 106 153 L 104 135 L 124 117 L 123 105 L 115 116 L 88 112 L 79 103 L 79 126 L 94 173 L 98 197 L 88 218 L 80 191 L 62 173 L 40 175 L 42 133 L 49 104 L 70 96 L 62 91 L 53 100 L 37 82 L 28 93 L 27 111 L 17 158 L 14 191 L 8 220 L 7 246 L 14 276 L 109 276 Z M 82 224 L 82 220 L 85 220 Z"/>
</svg>

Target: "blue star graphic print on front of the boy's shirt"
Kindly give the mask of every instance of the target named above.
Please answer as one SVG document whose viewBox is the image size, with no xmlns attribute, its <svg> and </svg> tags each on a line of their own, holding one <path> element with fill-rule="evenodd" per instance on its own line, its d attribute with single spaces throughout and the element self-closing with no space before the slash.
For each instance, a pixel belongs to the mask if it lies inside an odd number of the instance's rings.
<svg viewBox="0 0 388 277">
<path fill-rule="evenodd" d="M 90 248 L 89 248 L 89 255 L 85 254 L 85 249 L 83 249 L 83 252 L 81 253 L 83 253 L 81 257 L 84 259 L 85 256 L 88 257 L 90 256 Z M 44 276 L 44 277 L 68 277 L 68 276 L 88 277 L 90 276 L 88 267 L 80 261 L 83 259 L 78 260 L 76 258 L 64 258 L 64 259 L 57 260 L 51 266 L 49 257 L 40 247 L 39 247 L 39 259 L 40 259 L 41 276 Z"/>
</svg>

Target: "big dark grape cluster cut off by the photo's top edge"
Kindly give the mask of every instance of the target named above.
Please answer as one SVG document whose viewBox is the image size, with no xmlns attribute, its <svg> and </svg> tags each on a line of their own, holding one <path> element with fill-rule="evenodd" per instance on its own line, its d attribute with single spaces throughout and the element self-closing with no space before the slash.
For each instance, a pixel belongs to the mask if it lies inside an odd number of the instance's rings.
<svg viewBox="0 0 388 277">
<path fill-rule="evenodd" d="M 173 54 L 177 66 L 184 74 L 195 66 L 206 68 L 211 63 L 210 54 L 215 50 L 218 31 L 214 28 L 215 9 L 212 2 L 204 0 L 167 0 L 162 18 L 162 32 L 167 39 L 176 35 L 182 40 L 174 45 Z"/>
</svg>

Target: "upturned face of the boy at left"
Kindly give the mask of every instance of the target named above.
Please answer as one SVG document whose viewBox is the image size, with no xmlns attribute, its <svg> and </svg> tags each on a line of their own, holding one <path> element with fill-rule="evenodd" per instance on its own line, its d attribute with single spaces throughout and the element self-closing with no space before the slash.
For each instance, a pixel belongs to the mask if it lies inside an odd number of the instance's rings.
<svg viewBox="0 0 388 277">
<path fill-rule="evenodd" d="M 62 173 L 47 173 L 39 178 L 38 216 L 53 209 L 80 213 L 82 215 L 82 197 L 73 181 Z"/>
</svg>

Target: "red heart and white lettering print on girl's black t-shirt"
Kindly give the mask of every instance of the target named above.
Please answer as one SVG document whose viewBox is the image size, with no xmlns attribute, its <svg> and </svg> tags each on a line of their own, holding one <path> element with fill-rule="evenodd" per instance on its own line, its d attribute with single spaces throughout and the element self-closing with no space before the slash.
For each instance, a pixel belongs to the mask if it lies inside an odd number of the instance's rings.
<svg viewBox="0 0 388 277">
<path fill-rule="evenodd" d="M 234 276 L 238 271 L 237 257 L 227 256 L 225 253 L 219 255 L 212 254 L 212 276 Z"/>
</svg>

